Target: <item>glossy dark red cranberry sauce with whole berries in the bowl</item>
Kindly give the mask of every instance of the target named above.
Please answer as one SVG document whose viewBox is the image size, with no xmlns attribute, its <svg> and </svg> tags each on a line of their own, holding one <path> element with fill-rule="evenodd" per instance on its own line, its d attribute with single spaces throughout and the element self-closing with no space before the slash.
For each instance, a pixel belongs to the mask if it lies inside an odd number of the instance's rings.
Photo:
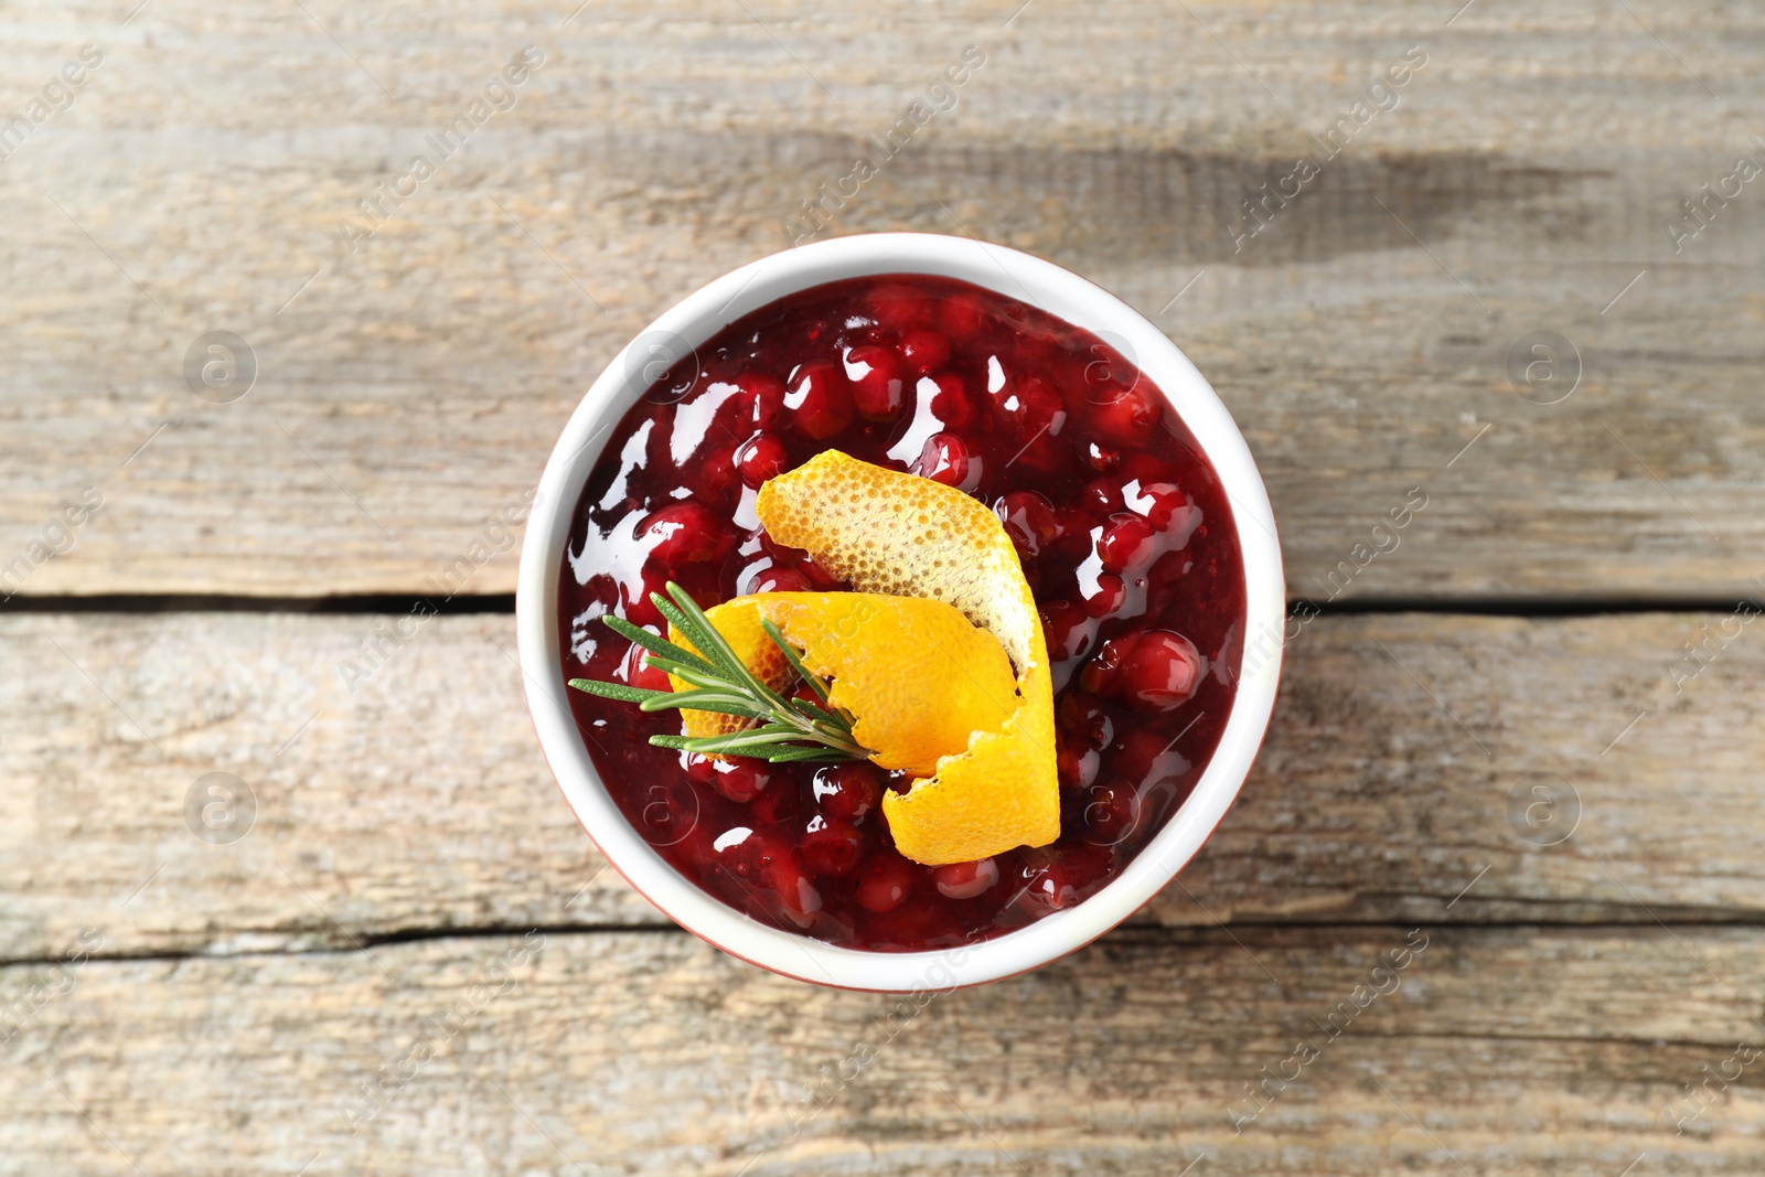
<svg viewBox="0 0 1765 1177">
<path fill-rule="evenodd" d="M 868 762 L 706 761 L 646 743 L 676 711 L 568 692 L 625 817 L 762 923 L 911 951 L 999 935 L 1101 888 L 1183 803 L 1232 709 L 1244 572 L 1225 494 L 1151 381 L 1094 335 L 967 282 L 852 279 L 775 302 L 674 365 L 607 441 L 563 565 L 565 678 L 667 686 L 597 618 L 844 589 L 754 514 L 822 450 L 992 505 L 1054 662 L 1061 838 L 928 868 L 890 842 Z"/>
</svg>

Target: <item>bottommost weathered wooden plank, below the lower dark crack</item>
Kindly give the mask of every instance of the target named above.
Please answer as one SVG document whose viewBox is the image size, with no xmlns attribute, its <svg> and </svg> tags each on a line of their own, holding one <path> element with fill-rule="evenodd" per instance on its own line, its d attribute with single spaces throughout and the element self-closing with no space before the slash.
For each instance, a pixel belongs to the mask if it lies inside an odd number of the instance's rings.
<svg viewBox="0 0 1765 1177">
<path fill-rule="evenodd" d="M 1140 930 L 902 1002 L 678 933 L 9 967 L 62 992 L 0 1172 L 1756 1173 L 1761 983 L 1756 928 Z"/>
</svg>

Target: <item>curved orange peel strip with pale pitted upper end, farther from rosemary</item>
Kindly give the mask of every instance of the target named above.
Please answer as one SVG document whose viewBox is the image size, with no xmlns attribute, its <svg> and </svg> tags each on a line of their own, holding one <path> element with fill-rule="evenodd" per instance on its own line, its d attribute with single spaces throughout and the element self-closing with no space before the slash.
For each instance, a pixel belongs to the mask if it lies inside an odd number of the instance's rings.
<svg viewBox="0 0 1765 1177">
<path fill-rule="evenodd" d="M 955 607 L 999 639 L 1017 669 L 1013 706 L 997 727 L 973 731 L 909 792 L 882 794 L 895 847 L 937 866 L 1054 842 L 1061 799 L 1048 651 L 999 519 L 955 487 L 838 450 L 768 480 L 755 512 L 773 540 L 805 549 L 860 593 Z"/>
</svg>

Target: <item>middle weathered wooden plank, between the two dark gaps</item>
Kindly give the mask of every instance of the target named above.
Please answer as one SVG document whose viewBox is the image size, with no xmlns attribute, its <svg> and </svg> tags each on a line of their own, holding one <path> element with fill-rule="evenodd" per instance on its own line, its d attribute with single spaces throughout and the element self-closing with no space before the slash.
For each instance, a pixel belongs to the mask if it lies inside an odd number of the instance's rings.
<svg viewBox="0 0 1765 1177">
<path fill-rule="evenodd" d="M 0 958 L 88 926 L 116 951 L 238 953 L 657 923 L 540 761 L 512 619 L 429 619 L 349 693 L 339 665 L 394 621 L 0 619 Z M 1756 919 L 1756 623 L 1671 672 L 1724 623 L 1304 625 L 1244 794 L 1144 919 Z M 238 828 L 205 824 L 210 773 L 254 798 L 233 842 L 192 833 Z"/>
</svg>

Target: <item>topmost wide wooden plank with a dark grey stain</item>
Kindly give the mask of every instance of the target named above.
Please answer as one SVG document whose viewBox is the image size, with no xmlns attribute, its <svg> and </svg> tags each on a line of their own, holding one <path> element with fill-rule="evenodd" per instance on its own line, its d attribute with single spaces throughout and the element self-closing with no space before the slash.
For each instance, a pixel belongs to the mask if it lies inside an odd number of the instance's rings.
<svg viewBox="0 0 1765 1177">
<path fill-rule="evenodd" d="M 1744 5 L 1476 5 L 1449 26 L 1458 5 L 1398 0 L 1036 5 L 1010 26 L 1015 5 L 905 0 L 837 19 L 614 2 L 560 26 L 561 7 L 9 18 L 9 78 L 104 51 L 0 168 L 0 563 L 30 565 L 9 588 L 417 591 L 531 485 L 644 321 L 784 247 L 798 201 L 973 42 L 987 65 L 955 109 L 826 231 L 973 233 L 1160 316 L 1262 462 L 1296 595 L 1756 591 L 1758 185 L 1694 238 L 1668 228 L 1760 155 Z M 351 251 L 339 222 L 530 42 L 547 58 L 515 108 Z M 1398 104 L 1239 251 L 1243 201 L 1322 159 L 1410 44 L 1428 64 Z M 235 404 L 182 374 L 215 330 L 258 356 Z M 1534 332 L 1580 356 L 1560 404 L 1507 376 Z M 86 487 L 102 510 L 39 561 Z M 1410 487 L 1430 508 L 1361 568 Z M 512 582 L 505 551 L 466 588 Z"/>
</svg>

